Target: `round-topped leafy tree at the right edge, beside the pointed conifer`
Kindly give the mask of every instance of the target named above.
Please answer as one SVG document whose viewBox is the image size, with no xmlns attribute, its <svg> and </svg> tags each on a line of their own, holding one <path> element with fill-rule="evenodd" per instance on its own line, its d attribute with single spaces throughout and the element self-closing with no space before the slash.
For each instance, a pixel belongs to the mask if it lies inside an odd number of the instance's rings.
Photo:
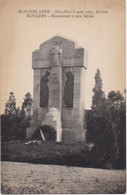
<svg viewBox="0 0 127 195">
<path fill-rule="evenodd" d="M 109 119 L 116 126 L 117 142 L 119 147 L 119 165 L 117 168 L 126 167 L 126 97 L 119 91 L 108 94 Z"/>
</svg>

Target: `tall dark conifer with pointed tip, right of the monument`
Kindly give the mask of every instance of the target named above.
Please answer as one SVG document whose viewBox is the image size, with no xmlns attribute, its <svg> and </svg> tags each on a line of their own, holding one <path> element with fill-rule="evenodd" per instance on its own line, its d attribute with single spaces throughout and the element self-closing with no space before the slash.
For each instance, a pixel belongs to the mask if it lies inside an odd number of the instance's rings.
<svg viewBox="0 0 127 195">
<path fill-rule="evenodd" d="M 117 93 L 117 97 L 114 98 L 115 92 L 113 92 L 106 99 L 99 69 L 95 74 L 93 92 L 92 109 L 87 115 L 88 140 L 94 143 L 100 166 L 108 168 L 113 166 L 119 155 L 117 125 L 111 113 L 113 111 L 115 116 L 115 99 L 122 99 L 122 97 Z"/>
</svg>

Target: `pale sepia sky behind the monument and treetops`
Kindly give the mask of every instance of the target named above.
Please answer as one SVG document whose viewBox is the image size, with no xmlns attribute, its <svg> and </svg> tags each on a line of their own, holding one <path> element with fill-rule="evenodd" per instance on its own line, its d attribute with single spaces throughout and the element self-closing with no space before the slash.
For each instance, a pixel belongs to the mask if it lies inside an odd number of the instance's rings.
<svg viewBox="0 0 127 195">
<path fill-rule="evenodd" d="M 74 18 L 27 17 L 19 10 L 74 11 Z M 82 11 L 82 17 L 76 12 Z M 94 17 L 84 17 L 86 11 Z M 96 13 L 98 12 L 98 13 Z M 100 13 L 101 12 L 101 13 Z M 105 12 L 105 13 L 102 13 Z M 108 13 L 107 13 L 108 12 Z M 103 90 L 125 89 L 125 1 L 124 0 L 1 0 L 0 113 L 10 92 L 17 106 L 24 95 L 33 96 L 32 51 L 55 35 L 77 42 L 88 52 L 85 78 L 85 108 L 91 107 L 97 68 Z"/>
</svg>

